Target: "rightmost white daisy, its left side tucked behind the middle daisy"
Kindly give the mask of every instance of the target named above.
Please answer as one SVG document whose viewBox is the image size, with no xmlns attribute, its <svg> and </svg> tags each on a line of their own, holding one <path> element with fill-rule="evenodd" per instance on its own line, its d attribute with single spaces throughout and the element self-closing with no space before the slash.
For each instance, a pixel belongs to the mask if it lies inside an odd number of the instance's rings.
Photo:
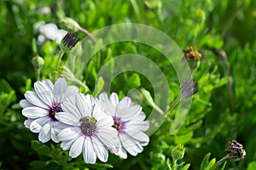
<svg viewBox="0 0 256 170">
<path fill-rule="evenodd" d="M 129 97 L 119 101 L 115 93 L 109 99 L 107 94 L 100 94 L 99 104 L 102 111 L 113 117 L 113 127 L 118 131 L 118 147 L 112 150 L 113 153 L 124 159 L 127 158 L 127 152 L 131 156 L 141 153 L 143 146 L 149 142 L 148 135 L 143 133 L 148 130 L 149 124 L 144 122 L 146 116 L 142 107 L 134 105 Z"/>
</svg>

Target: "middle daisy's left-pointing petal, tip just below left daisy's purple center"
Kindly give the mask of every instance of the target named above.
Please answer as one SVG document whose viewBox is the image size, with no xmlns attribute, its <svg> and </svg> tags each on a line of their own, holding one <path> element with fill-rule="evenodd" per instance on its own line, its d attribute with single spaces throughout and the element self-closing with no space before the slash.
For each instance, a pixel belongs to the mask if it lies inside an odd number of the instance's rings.
<svg viewBox="0 0 256 170">
<path fill-rule="evenodd" d="M 68 125 L 74 125 L 74 126 L 78 126 L 79 125 L 79 120 L 73 116 L 70 113 L 66 113 L 66 112 L 59 112 L 55 115 L 55 118 L 63 123 L 66 123 Z"/>
</svg>

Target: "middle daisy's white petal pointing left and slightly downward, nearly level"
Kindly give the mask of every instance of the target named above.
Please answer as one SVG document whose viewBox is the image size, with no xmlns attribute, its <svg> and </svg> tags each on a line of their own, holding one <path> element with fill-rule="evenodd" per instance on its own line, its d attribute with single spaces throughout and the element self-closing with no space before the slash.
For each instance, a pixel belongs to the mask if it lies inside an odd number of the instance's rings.
<svg viewBox="0 0 256 170">
<path fill-rule="evenodd" d="M 67 127 L 58 133 L 58 137 L 61 141 L 71 140 L 79 137 L 79 127 Z"/>
</svg>

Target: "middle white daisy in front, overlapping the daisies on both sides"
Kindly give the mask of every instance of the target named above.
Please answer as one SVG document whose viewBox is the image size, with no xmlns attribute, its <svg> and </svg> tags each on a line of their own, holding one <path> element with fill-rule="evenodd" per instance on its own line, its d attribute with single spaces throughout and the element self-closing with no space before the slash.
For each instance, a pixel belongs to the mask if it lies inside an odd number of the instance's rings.
<svg viewBox="0 0 256 170">
<path fill-rule="evenodd" d="M 69 150 L 69 156 L 75 158 L 83 153 L 86 163 L 95 163 L 96 157 L 108 161 L 108 149 L 115 148 L 117 132 L 113 119 L 96 109 L 96 100 L 89 94 L 77 94 L 63 102 L 61 112 L 55 116 L 65 123 L 58 133 L 61 148 Z"/>
</svg>

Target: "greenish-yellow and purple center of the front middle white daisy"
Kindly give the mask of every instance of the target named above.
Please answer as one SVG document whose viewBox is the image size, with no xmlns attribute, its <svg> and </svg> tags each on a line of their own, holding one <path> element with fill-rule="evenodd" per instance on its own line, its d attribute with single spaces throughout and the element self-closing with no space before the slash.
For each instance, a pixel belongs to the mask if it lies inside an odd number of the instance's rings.
<svg viewBox="0 0 256 170">
<path fill-rule="evenodd" d="M 81 131 L 85 136 L 92 136 L 94 133 L 96 133 L 96 118 L 84 116 L 79 121 L 81 122 Z"/>
</svg>

